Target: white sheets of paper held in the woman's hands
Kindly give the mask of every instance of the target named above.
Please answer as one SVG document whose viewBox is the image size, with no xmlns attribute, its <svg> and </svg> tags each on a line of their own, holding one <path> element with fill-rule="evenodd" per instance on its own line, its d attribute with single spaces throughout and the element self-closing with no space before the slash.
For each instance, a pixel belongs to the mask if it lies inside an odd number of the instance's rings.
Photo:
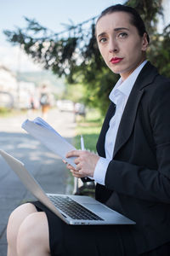
<svg viewBox="0 0 170 256">
<path fill-rule="evenodd" d="M 74 163 L 75 157 L 65 158 L 65 155 L 69 151 L 76 148 L 73 147 L 71 143 L 68 143 L 64 137 L 61 137 L 59 133 L 43 119 L 39 117 L 33 121 L 26 119 L 22 124 L 22 128 L 31 134 L 32 137 L 35 137 L 43 143 L 48 149 L 59 155 L 61 159 L 71 164 L 71 166 L 76 167 Z"/>
</svg>

